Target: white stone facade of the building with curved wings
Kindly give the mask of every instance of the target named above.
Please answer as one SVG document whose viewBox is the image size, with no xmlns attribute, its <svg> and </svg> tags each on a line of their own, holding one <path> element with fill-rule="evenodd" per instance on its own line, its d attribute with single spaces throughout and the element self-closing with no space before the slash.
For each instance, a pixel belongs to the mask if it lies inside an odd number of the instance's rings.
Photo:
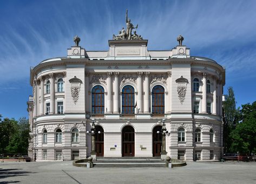
<svg viewBox="0 0 256 184">
<path fill-rule="evenodd" d="M 147 40 L 109 40 L 109 51 L 72 46 L 67 57 L 44 60 L 31 69 L 30 84 L 29 155 L 33 159 L 89 156 L 91 119 L 103 129 L 101 156 L 125 155 L 122 131 L 126 126 L 134 129 L 130 155 L 156 156 L 153 130 L 165 119 L 166 151 L 171 158 L 221 157 L 225 69 L 214 60 L 190 56 L 184 45 L 169 51 L 149 51 Z M 95 86 L 101 86 L 102 94 L 93 92 Z M 126 94 L 132 99 L 126 102 L 129 107 L 124 102 L 126 86 L 134 89 Z M 156 86 L 163 90 L 161 94 L 153 92 Z"/>
</svg>

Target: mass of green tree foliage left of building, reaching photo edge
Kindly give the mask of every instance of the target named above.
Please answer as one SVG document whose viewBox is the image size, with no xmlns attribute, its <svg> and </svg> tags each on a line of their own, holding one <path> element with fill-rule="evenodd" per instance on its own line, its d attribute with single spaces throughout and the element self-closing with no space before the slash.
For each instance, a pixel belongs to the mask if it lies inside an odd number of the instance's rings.
<svg viewBox="0 0 256 184">
<path fill-rule="evenodd" d="M 29 121 L 26 118 L 5 118 L 0 121 L 0 153 L 27 153 L 29 141 Z"/>
</svg>

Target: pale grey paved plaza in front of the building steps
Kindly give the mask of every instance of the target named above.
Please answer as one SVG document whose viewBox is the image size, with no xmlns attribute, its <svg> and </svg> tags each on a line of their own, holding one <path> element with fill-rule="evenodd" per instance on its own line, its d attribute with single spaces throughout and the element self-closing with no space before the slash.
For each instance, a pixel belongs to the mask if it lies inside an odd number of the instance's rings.
<svg viewBox="0 0 256 184">
<path fill-rule="evenodd" d="M 188 162 L 179 168 L 83 168 L 71 161 L 0 163 L 0 183 L 256 183 L 255 162 Z"/>
</svg>

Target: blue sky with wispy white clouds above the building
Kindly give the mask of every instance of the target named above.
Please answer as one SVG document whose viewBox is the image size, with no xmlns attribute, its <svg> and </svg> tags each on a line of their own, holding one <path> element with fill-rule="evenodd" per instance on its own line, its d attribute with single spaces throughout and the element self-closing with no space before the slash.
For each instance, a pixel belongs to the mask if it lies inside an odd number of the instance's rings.
<svg viewBox="0 0 256 184">
<path fill-rule="evenodd" d="M 226 67 L 241 104 L 256 100 L 256 1 L 0 1 L 0 114 L 28 117 L 29 68 L 67 56 L 75 35 L 86 50 L 108 50 L 125 12 L 148 50 L 170 50 L 182 35 L 192 56 Z"/>
</svg>

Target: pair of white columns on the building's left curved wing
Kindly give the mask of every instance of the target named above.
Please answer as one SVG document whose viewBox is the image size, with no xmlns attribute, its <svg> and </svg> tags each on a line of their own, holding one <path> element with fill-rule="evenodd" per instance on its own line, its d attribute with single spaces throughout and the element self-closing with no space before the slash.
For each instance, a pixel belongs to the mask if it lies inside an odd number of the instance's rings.
<svg viewBox="0 0 256 184">
<path fill-rule="evenodd" d="M 40 76 L 40 115 L 44 115 L 44 78 Z M 50 114 L 55 113 L 55 81 L 54 81 L 54 73 L 49 74 L 50 80 Z M 37 97 L 37 90 L 35 90 L 35 97 Z M 36 98 L 35 98 L 36 101 Z M 36 106 L 36 103 L 35 103 Z"/>
</svg>

